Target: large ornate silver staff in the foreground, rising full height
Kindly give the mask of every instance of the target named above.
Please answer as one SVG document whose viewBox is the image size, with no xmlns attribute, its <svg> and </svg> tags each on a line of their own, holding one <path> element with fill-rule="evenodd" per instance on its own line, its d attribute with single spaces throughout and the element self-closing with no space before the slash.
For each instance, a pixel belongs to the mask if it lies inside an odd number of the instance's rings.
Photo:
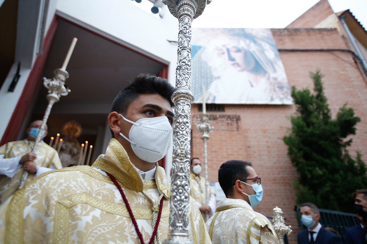
<svg viewBox="0 0 367 244">
<path fill-rule="evenodd" d="M 189 240 L 190 191 L 190 110 L 193 94 L 191 77 L 191 23 L 201 15 L 207 0 L 162 0 L 171 14 L 178 18 L 178 60 L 176 90 L 172 94 L 175 104 L 173 124 L 172 195 L 170 199 L 170 234 L 165 243 L 192 243 Z M 210 1 L 208 1 L 210 3 Z"/>
</svg>

